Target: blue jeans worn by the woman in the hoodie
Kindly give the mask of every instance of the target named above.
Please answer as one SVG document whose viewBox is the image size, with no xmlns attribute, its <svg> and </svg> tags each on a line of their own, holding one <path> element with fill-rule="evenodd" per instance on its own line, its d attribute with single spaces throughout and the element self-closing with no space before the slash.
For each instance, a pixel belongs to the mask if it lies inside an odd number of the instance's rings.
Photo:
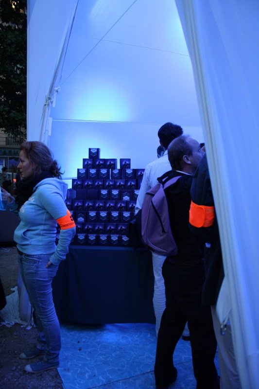
<svg viewBox="0 0 259 389">
<path fill-rule="evenodd" d="M 52 279 L 58 265 L 46 267 L 52 254 L 18 254 L 22 281 L 35 310 L 38 331 L 37 347 L 45 350 L 44 359 L 59 362 L 61 349 L 60 326 L 52 298 Z"/>
</svg>

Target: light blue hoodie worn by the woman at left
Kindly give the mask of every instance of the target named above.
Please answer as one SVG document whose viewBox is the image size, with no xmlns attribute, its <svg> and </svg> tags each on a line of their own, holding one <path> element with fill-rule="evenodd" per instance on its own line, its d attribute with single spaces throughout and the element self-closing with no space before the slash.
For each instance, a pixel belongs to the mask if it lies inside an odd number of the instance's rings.
<svg viewBox="0 0 259 389">
<path fill-rule="evenodd" d="M 66 258 L 75 227 L 60 231 L 55 245 L 56 220 L 67 215 L 65 204 L 68 185 L 58 178 L 45 178 L 35 186 L 35 191 L 21 206 L 18 214 L 20 223 L 15 230 L 17 248 L 25 254 L 52 254 L 50 261 L 58 265 Z M 11 211 L 17 210 L 12 202 Z"/>
</svg>

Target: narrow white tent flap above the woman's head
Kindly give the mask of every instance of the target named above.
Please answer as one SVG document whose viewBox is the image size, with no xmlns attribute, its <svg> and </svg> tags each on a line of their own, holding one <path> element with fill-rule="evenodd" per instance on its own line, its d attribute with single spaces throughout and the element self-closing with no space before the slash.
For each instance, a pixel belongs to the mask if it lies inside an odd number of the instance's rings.
<svg viewBox="0 0 259 389">
<path fill-rule="evenodd" d="M 27 138 L 49 143 L 50 108 L 78 0 L 28 0 Z"/>
</svg>

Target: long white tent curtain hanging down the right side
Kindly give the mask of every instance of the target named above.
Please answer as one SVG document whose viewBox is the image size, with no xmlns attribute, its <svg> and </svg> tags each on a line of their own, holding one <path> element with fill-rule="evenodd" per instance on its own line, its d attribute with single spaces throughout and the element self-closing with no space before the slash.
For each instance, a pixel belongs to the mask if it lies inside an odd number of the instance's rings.
<svg viewBox="0 0 259 389">
<path fill-rule="evenodd" d="M 192 61 L 223 249 L 218 300 L 243 389 L 259 388 L 259 2 L 176 0 Z M 230 310 L 230 313 L 229 313 Z"/>
</svg>

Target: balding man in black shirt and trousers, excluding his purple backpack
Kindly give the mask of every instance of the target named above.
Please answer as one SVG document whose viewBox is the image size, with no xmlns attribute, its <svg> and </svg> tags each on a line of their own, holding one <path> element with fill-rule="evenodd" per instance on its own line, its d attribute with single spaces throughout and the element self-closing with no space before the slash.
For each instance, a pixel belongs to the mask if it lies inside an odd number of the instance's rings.
<svg viewBox="0 0 259 389">
<path fill-rule="evenodd" d="M 156 388 L 168 388 L 176 380 L 173 352 L 186 322 L 190 330 L 190 344 L 196 389 L 219 388 L 214 364 L 216 339 L 209 307 L 202 306 L 205 280 L 204 244 L 189 229 L 190 187 L 193 174 L 204 152 L 197 141 L 181 136 L 168 147 L 172 171 L 164 176 L 180 176 L 166 190 L 171 229 L 178 253 L 167 257 L 162 274 L 165 280 L 166 308 L 157 337 L 155 356 Z"/>
</svg>

